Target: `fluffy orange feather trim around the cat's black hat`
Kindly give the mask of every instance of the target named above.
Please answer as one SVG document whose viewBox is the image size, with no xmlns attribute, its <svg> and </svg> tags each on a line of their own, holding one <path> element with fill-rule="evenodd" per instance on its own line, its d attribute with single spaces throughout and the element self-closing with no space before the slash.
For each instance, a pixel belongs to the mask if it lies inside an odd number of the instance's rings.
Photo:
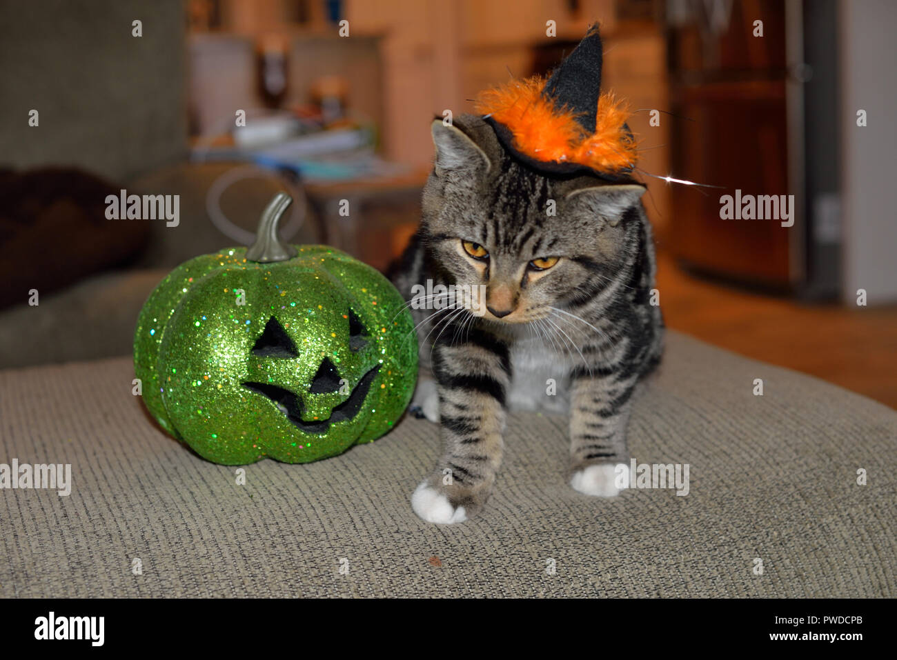
<svg viewBox="0 0 897 660">
<path fill-rule="evenodd" d="M 625 105 L 604 92 L 598 99 L 595 131 L 588 133 L 566 107 L 557 109 L 542 91 L 539 76 L 481 91 L 475 109 L 506 126 L 519 152 L 536 161 L 570 162 L 598 171 L 631 169 L 638 160 L 636 143 L 627 135 Z"/>
</svg>

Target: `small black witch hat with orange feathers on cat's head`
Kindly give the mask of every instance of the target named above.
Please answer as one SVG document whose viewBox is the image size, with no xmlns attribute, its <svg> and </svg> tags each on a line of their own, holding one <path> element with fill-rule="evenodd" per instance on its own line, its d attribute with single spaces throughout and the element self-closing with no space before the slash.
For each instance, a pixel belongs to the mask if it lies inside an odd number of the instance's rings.
<svg viewBox="0 0 897 660">
<path fill-rule="evenodd" d="M 511 155 L 550 175 L 631 180 L 637 160 L 628 112 L 601 92 L 597 25 L 546 80 L 512 80 L 480 92 L 475 109 Z"/>
</svg>

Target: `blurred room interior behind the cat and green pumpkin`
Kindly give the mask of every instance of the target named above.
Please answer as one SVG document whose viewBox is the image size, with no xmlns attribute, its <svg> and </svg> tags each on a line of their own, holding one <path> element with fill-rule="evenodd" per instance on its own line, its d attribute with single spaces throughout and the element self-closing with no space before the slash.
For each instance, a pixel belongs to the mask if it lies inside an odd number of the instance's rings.
<svg viewBox="0 0 897 660">
<path fill-rule="evenodd" d="M 161 278 L 280 189 L 284 239 L 384 269 L 431 118 L 596 21 L 640 168 L 718 187 L 644 178 L 667 325 L 897 407 L 890 0 L 0 0 L 0 368 L 129 353 Z M 123 188 L 178 226 L 108 220 Z M 721 220 L 736 190 L 794 225 Z"/>
</svg>

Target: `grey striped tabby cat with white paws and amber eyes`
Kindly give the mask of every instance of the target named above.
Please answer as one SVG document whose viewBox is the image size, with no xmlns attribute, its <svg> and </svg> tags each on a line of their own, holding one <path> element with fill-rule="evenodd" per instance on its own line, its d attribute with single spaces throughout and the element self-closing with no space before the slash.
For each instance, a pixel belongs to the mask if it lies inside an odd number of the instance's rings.
<svg viewBox="0 0 897 660">
<path fill-rule="evenodd" d="M 569 407 L 570 485 L 616 495 L 631 397 L 663 351 L 663 317 L 649 300 L 656 262 L 645 187 L 546 175 L 474 115 L 451 126 L 438 119 L 431 134 L 422 221 L 390 277 L 409 301 L 428 280 L 483 285 L 485 309 L 447 296 L 424 301 L 440 298 L 441 310 L 410 305 L 422 365 L 412 410 L 440 423 L 444 444 L 414 491 L 414 512 L 459 523 L 483 508 L 509 408 Z M 549 378 L 556 396 L 546 394 Z"/>
</svg>

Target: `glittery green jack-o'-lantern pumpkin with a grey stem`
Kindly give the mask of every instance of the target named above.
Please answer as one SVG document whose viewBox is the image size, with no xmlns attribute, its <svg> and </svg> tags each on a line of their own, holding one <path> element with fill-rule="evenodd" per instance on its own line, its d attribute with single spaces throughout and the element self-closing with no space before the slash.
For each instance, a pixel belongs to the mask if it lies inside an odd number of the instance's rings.
<svg viewBox="0 0 897 660">
<path fill-rule="evenodd" d="M 250 248 L 179 265 L 137 321 L 134 363 L 161 427 L 223 465 L 308 463 L 386 433 L 411 400 L 417 339 L 369 265 L 288 246 L 277 195 Z"/>
</svg>

